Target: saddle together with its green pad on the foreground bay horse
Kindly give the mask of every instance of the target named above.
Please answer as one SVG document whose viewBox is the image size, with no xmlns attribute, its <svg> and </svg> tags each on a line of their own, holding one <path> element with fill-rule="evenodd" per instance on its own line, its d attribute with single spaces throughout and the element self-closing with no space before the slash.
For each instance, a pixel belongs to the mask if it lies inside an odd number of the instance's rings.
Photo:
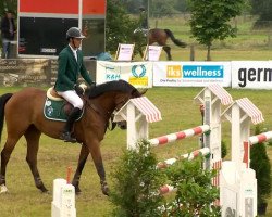
<svg viewBox="0 0 272 217">
<path fill-rule="evenodd" d="M 44 105 L 44 115 L 47 119 L 66 122 L 72 108 L 73 105 L 59 95 L 53 87 L 47 90 L 47 99 Z M 84 110 L 76 120 L 81 119 L 83 114 Z"/>
</svg>

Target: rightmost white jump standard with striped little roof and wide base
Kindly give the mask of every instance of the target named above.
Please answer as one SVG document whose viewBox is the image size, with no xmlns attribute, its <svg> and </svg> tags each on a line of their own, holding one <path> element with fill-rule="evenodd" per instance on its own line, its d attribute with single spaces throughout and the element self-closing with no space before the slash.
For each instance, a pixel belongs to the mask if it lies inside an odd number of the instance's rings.
<svg viewBox="0 0 272 217">
<path fill-rule="evenodd" d="M 223 162 L 220 173 L 222 216 L 255 217 L 257 180 L 255 170 L 247 168 L 248 165 L 243 163 L 245 154 L 249 157 L 244 146 L 250 142 L 250 123 L 260 124 L 264 119 L 261 111 L 247 98 L 236 100 L 226 108 L 223 116 L 232 123 L 232 161 Z M 251 142 L 255 141 L 254 137 Z"/>
</svg>

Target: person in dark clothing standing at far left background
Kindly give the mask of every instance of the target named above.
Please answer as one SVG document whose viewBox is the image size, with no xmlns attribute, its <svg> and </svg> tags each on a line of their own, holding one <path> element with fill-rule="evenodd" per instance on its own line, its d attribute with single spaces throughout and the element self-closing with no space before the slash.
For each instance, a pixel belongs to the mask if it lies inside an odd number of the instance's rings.
<svg viewBox="0 0 272 217">
<path fill-rule="evenodd" d="M 2 55 L 9 58 L 10 43 L 14 40 L 16 34 L 15 22 L 11 10 L 5 11 L 1 20 L 1 37 L 2 37 Z"/>
</svg>

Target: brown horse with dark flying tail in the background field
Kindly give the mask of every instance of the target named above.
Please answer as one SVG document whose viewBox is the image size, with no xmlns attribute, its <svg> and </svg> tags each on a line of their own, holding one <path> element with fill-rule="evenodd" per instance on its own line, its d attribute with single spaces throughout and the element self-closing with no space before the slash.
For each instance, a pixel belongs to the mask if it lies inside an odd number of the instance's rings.
<svg viewBox="0 0 272 217">
<path fill-rule="evenodd" d="M 166 44 L 168 39 L 171 39 L 174 44 L 185 48 L 187 44 L 174 37 L 170 29 L 152 28 L 148 31 L 148 44 L 158 43 L 168 54 L 168 60 L 172 60 L 171 48 Z"/>
</svg>

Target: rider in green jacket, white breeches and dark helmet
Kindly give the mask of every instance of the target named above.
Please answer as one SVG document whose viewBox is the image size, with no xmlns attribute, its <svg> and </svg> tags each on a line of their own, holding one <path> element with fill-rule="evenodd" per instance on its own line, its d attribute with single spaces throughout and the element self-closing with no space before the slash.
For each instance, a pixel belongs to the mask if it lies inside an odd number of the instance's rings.
<svg viewBox="0 0 272 217">
<path fill-rule="evenodd" d="M 83 100 L 78 95 L 84 93 L 84 89 L 77 84 L 78 75 L 81 74 L 88 85 L 95 85 L 84 66 L 83 53 L 79 50 L 84 38 L 79 28 L 71 27 L 66 33 L 69 44 L 60 52 L 58 59 L 59 68 L 54 89 L 59 95 L 74 106 L 61 136 L 65 142 L 76 142 L 76 139 L 71 136 L 71 131 L 83 108 Z"/>
</svg>

